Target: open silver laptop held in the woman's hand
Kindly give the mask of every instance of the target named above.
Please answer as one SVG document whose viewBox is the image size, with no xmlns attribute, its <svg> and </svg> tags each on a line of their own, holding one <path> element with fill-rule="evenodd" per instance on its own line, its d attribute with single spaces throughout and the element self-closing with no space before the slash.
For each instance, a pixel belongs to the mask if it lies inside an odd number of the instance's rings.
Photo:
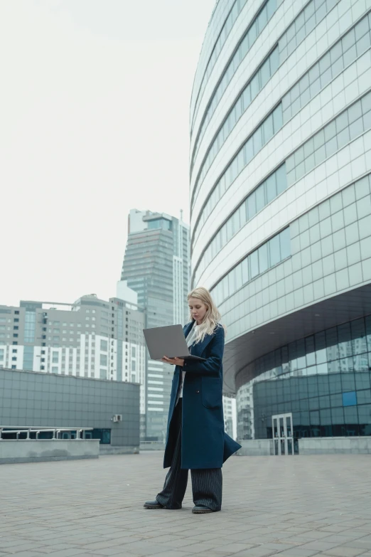
<svg viewBox="0 0 371 557">
<path fill-rule="evenodd" d="M 185 360 L 205 361 L 205 358 L 190 354 L 181 325 L 143 329 L 143 333 L 149 355 L 153 360 L 161 360 L 163 356 L 167 356 L 168 358 L 178 357 Z"/>
</svg>

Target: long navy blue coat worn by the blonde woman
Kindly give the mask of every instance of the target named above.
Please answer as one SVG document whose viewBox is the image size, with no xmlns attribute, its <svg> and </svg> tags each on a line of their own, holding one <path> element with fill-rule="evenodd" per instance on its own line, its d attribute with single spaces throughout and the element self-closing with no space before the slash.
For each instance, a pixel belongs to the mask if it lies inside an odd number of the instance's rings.
<svg viewBox="0 0 371 557">
<path fill-rule="evenodd" d="M 194 322 L 185 325 L 188 336 Z M 185 361 L 183 368 L 176 366 L 171 388 L 168 410 L 163 467 L 171 466 L 171 457 L 176 443 L 177 431 L 172 428 L 171 418 L 176 404 L 179 381 L 185 371 L 182 403 L 181 468 L 221 468 L 230 455 L 241 448 L 224 431 L 222 383 L 222 357 L 224 351 L 224 329 L 216 327 L 202 342 L 191 346 L 191 354 L 206 361 Z"/>
</svg>

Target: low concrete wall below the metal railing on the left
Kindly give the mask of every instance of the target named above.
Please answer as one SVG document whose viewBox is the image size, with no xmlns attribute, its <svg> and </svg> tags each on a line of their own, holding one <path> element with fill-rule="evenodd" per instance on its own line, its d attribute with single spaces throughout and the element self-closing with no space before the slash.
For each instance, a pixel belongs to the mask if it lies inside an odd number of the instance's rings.
<svg viewBox="0 0 371 557">
<path fill-rule="evenodd" d="M 100 442 L 86 440 L 1 440 L 0 464 L 99 458 Z"/>
</svg>

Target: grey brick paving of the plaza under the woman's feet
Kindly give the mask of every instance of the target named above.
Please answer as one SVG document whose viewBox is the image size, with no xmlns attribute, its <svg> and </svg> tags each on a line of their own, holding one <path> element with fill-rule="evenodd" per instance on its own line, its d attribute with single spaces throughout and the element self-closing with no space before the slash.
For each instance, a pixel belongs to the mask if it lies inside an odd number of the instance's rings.
<svg viewBox="0 0 371 557">
<path fill-rule="evenodd" d="M 222 511 L 143 509 L 161 452 L 0 466 L 0 557 L 371 557 L 371 457 L 231 457 Z"/>
</svg>

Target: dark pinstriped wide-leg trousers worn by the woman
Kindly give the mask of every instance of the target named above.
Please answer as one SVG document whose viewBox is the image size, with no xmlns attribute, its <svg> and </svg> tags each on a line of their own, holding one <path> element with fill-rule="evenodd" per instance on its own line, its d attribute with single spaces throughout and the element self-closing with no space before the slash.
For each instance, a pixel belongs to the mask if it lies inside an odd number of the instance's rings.
<svg viewBox="0 0 371 557">
<path fill-rule="evenodd" d="M 181 469 L 182 443 L 182 399 L 179 399 L 171 420 L 171 434 L 176 438 L 176 445 L 171 460 L 171 467 L 166 474 L 162 492 L 156 500 L 166 509 L 181 509 L 188 482 L 188 470 Z M 208 468 L 190 470 L 192 479 L 193 502 L 205 505 L 213 511 L 222 508 L 222 469 Z"/>
</svg>

